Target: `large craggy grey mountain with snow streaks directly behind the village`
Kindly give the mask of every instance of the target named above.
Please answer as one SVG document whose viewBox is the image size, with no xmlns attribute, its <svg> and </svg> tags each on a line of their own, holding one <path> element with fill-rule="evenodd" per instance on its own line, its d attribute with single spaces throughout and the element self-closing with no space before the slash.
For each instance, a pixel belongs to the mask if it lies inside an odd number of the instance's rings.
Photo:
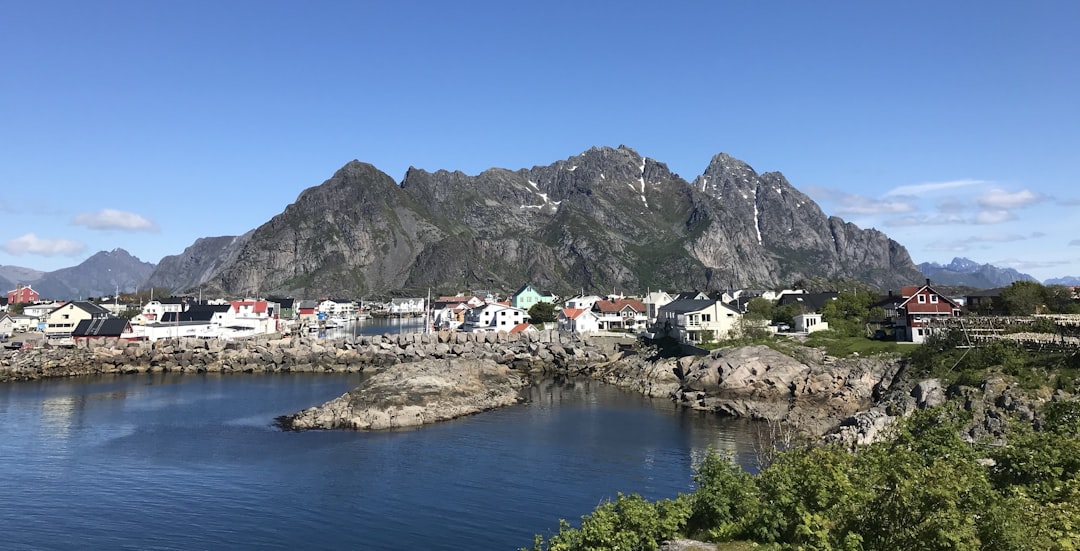
<svg viewBox="0 0 1080 551">
<path fill-rule="evenodd" d="M 150 282 L 362 296 L 525 282 L 572 292 L 922 279 L 902 245 L 825 216 L 780 173 L 720 153 L 689 183 L 624 146 L 476 176 L 410 167 L 400 185 L 352 161 L 224 243 L 163 259 Z"/>
</svg>

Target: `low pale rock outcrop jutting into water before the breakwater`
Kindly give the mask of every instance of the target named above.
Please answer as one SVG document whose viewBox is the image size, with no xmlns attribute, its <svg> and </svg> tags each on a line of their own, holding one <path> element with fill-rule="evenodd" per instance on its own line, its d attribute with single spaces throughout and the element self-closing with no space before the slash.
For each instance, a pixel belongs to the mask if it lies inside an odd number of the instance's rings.
<svg viewBox="0 0 1080 551">
<path fill-rule="evenodd" d="M 491 360 L 423 360 L 373 375 L 340 398 L 278 418 L 286 430 L 418 427 L 522 401 L 528 378 Z"/>
</svg>

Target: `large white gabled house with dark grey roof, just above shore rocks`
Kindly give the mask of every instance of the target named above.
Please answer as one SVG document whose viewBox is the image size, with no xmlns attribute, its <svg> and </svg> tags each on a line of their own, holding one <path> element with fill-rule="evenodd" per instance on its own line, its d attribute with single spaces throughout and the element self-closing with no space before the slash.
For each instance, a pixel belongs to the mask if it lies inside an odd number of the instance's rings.
<svg viewBox="0 0 1080 551">
<path fill-rule="evenodd" d="M 681 299 L 660 308 L 653 324 L 658 335 L 679 342 L 704 342 L 733 336 L 742 314 L 719 300 Z"/>
</svg>

